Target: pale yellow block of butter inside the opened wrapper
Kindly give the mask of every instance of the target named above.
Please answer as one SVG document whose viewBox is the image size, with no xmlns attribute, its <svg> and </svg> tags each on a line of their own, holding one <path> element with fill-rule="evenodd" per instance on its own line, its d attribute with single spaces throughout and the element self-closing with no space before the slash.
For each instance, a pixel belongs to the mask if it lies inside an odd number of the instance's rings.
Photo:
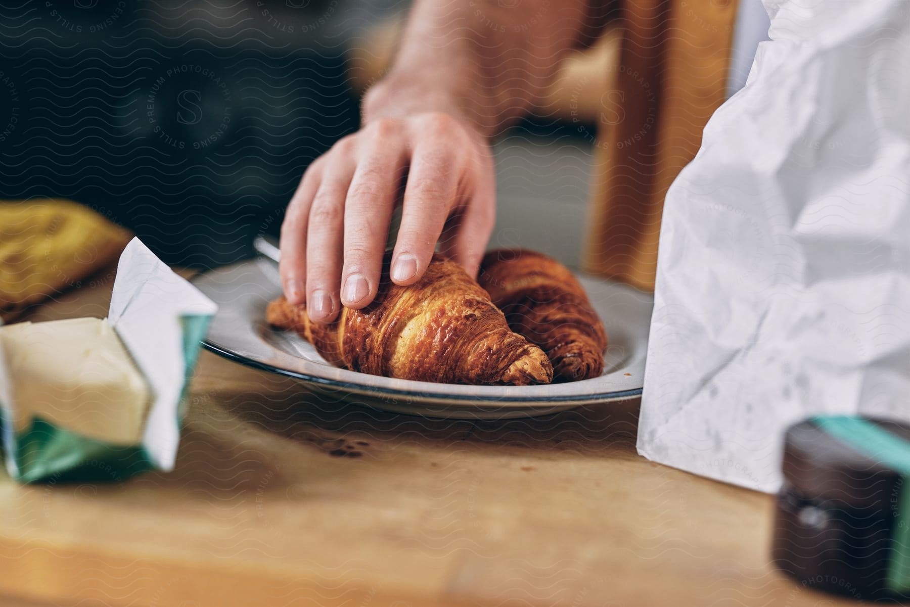
<svg viewBox="0 0 910 607">
<path fill-rule="evenodd" d="M 35 417 L 89 439 L 141 442 L 151 390 L 107 319 L 0 327 L 16 433 Z"/>
</svg>

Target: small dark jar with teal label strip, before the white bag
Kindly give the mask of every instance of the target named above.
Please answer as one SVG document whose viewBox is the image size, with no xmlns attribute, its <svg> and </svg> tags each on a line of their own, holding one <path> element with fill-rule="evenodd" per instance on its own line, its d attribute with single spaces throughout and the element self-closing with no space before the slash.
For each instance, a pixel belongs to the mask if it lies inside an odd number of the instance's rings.
<svg viewBox="0 0 910 607">
<path fill-rule="evenodd" d="M 910 597 L 910 424 L 801 421 L 784 437 L 775 564 L 806 586 L 865 600 Z"/>
</svg>

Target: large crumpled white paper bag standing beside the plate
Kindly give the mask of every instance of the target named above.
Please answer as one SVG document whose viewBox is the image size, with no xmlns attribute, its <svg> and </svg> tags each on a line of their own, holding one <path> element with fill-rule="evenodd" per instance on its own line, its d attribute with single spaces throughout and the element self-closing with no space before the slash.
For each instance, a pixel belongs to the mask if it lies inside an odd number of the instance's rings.
<svg viewBox="0 0 910 607">
<path fill-rule="evenodd" d="M 638 450 L 777 491 L 791 423 L 910 421 L 910 3 L 764 5 L 666 197 Z"/>
</svg>

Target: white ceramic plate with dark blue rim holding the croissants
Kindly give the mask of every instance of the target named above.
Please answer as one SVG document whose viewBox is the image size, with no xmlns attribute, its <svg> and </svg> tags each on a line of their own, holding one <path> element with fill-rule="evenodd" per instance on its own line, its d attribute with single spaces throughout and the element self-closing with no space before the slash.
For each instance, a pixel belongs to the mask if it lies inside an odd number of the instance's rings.
<svg viewBox="0 0 910 607">
<path fill-rule="evenodd" d="M 634 288 L 580 276 L 607 329 L 610 346 L 599 378 L 549 386 L 465 386 L 383 378 L 329 365 L 296 334 L 271 329 L 268 302 L 278 297 L 278 266 L 250 259 L 198 275 L 193 282 L 218 305 L 207 349 L 242 364 L 309 382 L 333 398 L 438 418 L 495 419 L 545 415 L 642 393 L 653 298 Z"/>
</svg>

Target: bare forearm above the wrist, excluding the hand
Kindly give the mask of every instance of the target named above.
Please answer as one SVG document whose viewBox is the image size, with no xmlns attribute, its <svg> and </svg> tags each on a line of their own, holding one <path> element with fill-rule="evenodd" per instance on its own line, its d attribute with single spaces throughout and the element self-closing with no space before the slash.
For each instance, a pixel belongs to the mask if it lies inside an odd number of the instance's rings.
<svg viewBox="0 0 910 607">
<path fill-rule="evenodd" d="M 587 0 L 418 0 L 363 120 L 441 111 L 491 137 L 545 94 L 591 23 Z"/>
</svg>

